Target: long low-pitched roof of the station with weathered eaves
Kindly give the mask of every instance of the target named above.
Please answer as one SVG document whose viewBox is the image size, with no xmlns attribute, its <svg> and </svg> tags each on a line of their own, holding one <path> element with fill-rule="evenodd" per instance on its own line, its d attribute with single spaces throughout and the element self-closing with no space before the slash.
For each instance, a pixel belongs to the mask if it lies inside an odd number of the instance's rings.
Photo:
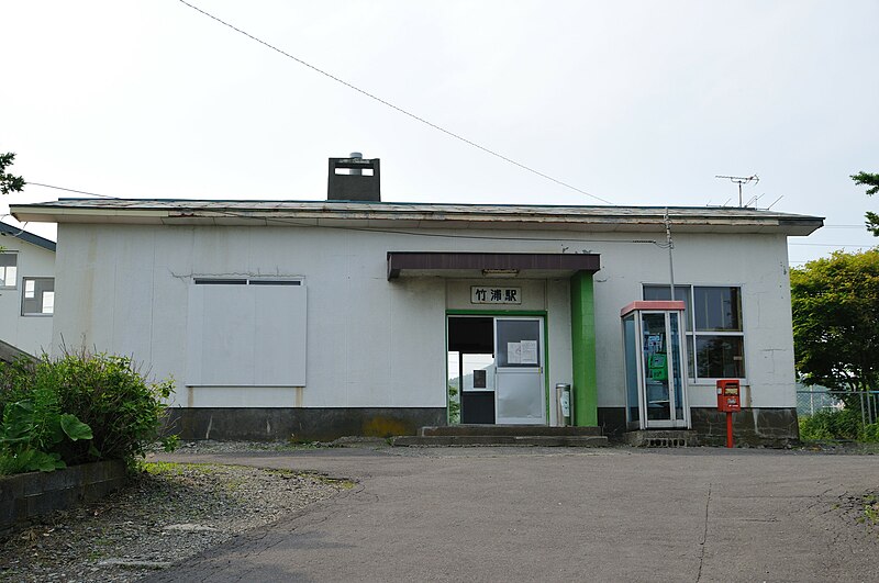
<svg viewBox="0 0 879 583">
<path fill-rule="evenodd" d="M 280 200 L 62 199 L 19 204 L 20 221 L 162 224 L 297 224 L 405 228 L 660 231 L 666 206 L 446 204 Z M 730 206 L 668 206 L 672 225 L 699 232 L 808 235 L 817 216 Z"/>
</svg>

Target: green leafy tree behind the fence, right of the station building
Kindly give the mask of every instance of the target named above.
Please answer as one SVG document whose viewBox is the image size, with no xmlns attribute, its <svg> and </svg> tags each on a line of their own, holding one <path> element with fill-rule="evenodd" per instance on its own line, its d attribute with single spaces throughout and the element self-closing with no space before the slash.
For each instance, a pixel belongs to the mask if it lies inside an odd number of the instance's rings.
<svg viewBox="0 0 879 583">
<path fill-rule="evenodd" d="M 790 272 L 797 370 L 805 384 L 879 390 L 879 248 Z"/>
</svg>

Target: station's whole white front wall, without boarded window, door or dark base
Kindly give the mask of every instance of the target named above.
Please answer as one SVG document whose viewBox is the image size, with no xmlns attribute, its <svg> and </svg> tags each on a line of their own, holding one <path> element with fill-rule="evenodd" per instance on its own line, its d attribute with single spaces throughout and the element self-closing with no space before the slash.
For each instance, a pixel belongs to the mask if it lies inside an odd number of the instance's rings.
<svg viewBox="0 0 879 583">
<path fill-rule="evenodd" d="M 561 253 L 567 248 L 566 253 L 601 255 L 602 269 L 594 276 L 599 406 L 623 406 L 620 309 L 642 298 L 643 283 L 668 281 L 665 249 L 626 242 L 657 235 L 601 233 L 594 238 L 604 243 L 575 244 L 567 239 L 588 236 L 476 229 L 458 234 L 566 240 L 434 238 L 332 228 L 60 224 L 54 345 L 57 349 L 63 336 L 68 347 L 133 355 L 156 377 L 175 377 L 175 404 L 182 406 L 444 407 L 445 314 L 465 305 L 454 289 L 468 290 L 469 283 L 405 277 L 388 281 L 387 251 Z M 675 244 L 676 283 L 742 287 L 745 405 L 794 406 L 783 235 L 676 234 Z M 187 298 L 193 276 L 303 278 L 305 386 L 182 386 Z M 523 292 L 539 290 L 539 294 L 528 292 L 521 309 L 547 312 L 549 385 L 571 382 L 568 280 L 490 282 L 522 287 Z M 714 403 L 713 385 L 691 386 L 691 406 Z"/>
</svg>

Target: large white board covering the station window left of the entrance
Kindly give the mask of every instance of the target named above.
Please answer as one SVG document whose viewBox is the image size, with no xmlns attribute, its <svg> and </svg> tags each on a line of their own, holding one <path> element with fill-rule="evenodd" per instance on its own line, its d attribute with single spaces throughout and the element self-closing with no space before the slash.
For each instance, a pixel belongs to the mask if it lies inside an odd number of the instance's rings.
<svg viewBox="0 0 879 583">
<path fill-rule="evenodd" d="M 198 280 L 189 288 L 189 386 L 304 386 L 305 287 Z"/>
</svg>

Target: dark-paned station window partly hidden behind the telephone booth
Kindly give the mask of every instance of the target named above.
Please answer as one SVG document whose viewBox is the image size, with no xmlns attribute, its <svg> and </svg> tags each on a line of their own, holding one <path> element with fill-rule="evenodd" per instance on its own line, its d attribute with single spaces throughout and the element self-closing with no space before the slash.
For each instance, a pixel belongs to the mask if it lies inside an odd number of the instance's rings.
<svg viewBox="0 0 879 583">
<path fill-rule="evenodd" d="M 644 285 L 645 300 L 669 300 L 668 285 Z M 686 304 L 687 359 L 691 379 L 744 379 L 745 334 L 742 290 L 721 285 L 675 285 Z"/>
</svg>

